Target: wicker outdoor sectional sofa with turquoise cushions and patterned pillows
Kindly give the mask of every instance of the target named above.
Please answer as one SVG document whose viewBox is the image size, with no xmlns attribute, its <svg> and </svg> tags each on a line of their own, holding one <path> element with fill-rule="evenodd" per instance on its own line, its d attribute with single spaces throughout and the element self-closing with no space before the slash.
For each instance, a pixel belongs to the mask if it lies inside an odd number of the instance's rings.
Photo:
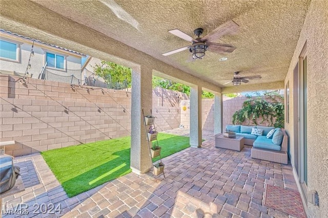
<svg viewBox="0 0 328 218">
<path fill-rule="evenodd" d="M 251 150 L 252 158 L 283 164 L 288 163 L 288 136 L 284 129 L 270 126 L 227 125 L 226 130 L 231 130 L 236 136 L 244 137 L 245 145 L 253 146 Z M 270 132 L 271 136 L 269 136 Z"/>
</svg>

